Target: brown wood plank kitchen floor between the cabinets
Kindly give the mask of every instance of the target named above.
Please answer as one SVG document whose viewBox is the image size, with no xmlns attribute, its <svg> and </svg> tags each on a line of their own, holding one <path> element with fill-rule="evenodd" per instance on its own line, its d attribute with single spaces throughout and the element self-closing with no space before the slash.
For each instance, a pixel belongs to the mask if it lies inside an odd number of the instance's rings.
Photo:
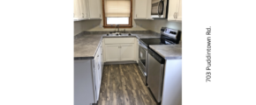
<svg viewBox="0 0 256 105">
<path fill-rule="evenodd" d="M 156 105 L 137 64 L 105 65 L 98 105 Z"/>
</svg>

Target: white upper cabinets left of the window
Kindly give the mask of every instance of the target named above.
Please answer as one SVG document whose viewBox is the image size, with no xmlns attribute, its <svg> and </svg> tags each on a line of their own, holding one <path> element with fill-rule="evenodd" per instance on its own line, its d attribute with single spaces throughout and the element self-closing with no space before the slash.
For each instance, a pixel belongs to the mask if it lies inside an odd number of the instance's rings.
<svg viewBox="0 0 256 105">
<path fill-rule="evenodd" d="M 74 21 L 101 19 L 101 0 L 74 0 Z"/>
</svg>

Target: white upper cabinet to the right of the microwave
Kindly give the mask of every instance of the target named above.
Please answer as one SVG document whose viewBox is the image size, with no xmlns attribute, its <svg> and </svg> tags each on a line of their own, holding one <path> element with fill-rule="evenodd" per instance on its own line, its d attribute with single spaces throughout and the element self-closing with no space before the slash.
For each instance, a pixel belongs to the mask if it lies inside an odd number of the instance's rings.
<svg viewBox="0 0 256 105">
<path fill-rule="evenodd" d="M 169 0 L 168 21 L 182 21 L 182 0 Z"/>
</svg>

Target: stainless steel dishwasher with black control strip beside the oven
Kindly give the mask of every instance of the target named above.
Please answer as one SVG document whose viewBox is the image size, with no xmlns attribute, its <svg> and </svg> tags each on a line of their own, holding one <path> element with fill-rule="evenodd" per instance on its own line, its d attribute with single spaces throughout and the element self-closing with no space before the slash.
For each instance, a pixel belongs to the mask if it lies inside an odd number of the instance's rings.
<svg viewBox="0 0 256 105">
<path fill-rule="evenodd" d="M 162 101 L 162 75 L 165 59 L 160 55 L 147 49 L 148 66 L 147 66 L 147 85 L 157 102 Z"/>
</svg>

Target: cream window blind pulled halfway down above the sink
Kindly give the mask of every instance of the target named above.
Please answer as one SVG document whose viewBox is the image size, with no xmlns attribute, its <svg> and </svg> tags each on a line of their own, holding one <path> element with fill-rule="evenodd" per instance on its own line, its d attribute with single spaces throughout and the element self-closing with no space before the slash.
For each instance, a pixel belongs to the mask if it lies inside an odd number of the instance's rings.
<svg viewBox="0 0 256 105">
<path fill-rule="evenodd" d="M 131 0 L 105 0 L 105 17 L 129 18 L 131 13 Z"/>
</svg>

